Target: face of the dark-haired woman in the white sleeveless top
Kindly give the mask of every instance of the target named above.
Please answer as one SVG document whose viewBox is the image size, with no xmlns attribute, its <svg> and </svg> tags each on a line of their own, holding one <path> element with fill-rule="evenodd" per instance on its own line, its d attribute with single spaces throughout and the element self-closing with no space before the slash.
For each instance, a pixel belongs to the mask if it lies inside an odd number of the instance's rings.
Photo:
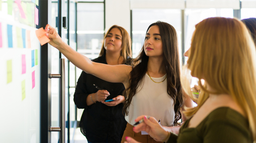
<svg viewBox="0 0 256 143">
<path fill-rule="evenodd" d="M 163 55 L 163 42 L 157 25 L 149 28 L 144 41 L 144 51 L 149 57 Z"/>
</svg>

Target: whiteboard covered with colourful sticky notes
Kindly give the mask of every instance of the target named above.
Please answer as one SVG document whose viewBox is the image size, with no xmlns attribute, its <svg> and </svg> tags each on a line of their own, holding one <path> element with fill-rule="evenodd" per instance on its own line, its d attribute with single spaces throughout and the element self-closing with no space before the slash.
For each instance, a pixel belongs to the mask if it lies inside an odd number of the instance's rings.
<svg viewBox="0 0 256 143">
<path fill-rule="evenodd" d="M 22 0 L 22 3 L 24 6 L 27 2 Z M 35 4 L 31 1 L 29 4 L 33 8 L 30 12 L 23 8 L 26 18 L 30 14 L 33 21 Z M 38 143 L 41 46 L 35 35 L 35 25 L 21 18 L 14 1 L 12 15 L 8 14 L 7 2 L 2 2 L 0 6 L 0 143 Z"/>
</svg>

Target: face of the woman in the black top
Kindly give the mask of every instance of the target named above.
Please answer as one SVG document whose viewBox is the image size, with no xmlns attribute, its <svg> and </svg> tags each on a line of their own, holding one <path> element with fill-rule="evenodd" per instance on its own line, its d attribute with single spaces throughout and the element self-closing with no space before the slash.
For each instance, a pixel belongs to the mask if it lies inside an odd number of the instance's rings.
<svg viewBox="0 0 256 143">
<path fill-rule="evenodd" d="M 108 52 L 120 52 L 122 50 L 122 34 L 118 28 L 113 28 L 104 40 L 104 48 Z"/>
</svg>

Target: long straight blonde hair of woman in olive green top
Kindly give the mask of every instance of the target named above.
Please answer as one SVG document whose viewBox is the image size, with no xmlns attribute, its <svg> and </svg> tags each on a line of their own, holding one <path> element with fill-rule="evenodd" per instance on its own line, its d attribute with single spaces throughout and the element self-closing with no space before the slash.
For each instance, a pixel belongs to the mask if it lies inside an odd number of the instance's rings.
<svg viewBox="0 0 256 143">
<path fill-rule="evenodd" d="M 209 86 L 229 94 L 244 110 L 251 135 L 256 141 L 256 51 L 246 26 L 232 18 L 207 18 L 196 25 L 191 40 L 187 68 L 191 75 L 204 78 Z M 181 80 L 185 86 L 184 77 Z M 187 84 L 188 85 L 188 84 Z M 212 93 L 199 80 L 202 92 L 198 98 L 185 92 L 198 106 L 187 108 L 186 116 L 194 115 Z"/>
</svg>

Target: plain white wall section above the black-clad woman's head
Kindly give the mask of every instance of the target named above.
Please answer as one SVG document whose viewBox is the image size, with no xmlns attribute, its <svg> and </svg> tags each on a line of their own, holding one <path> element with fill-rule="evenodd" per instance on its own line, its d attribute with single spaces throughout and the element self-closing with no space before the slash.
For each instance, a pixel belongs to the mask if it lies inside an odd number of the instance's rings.
<svg viewBox="0 0 256 143">
<path fill-rule="evenodd" d="M 130 34 L 130 3 L 129 0 L 105 1 L 105 33 L 113 26 L 123 27 Z"/>
</svg>

